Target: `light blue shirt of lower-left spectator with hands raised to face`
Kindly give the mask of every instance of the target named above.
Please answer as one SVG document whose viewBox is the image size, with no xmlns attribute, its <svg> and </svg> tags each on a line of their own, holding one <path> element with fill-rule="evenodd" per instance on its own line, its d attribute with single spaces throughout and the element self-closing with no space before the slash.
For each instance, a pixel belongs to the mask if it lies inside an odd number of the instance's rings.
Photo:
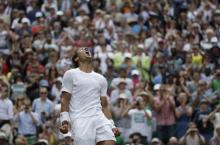
<svg viewBox="0 0 220 145">
<path fill-rule="evenodd" d="M 37 113 L 31 112 L 34 116 L 37 124 L 33 123 L 33 120 L 29 113 L 24 111 L 19 113 L 18 118 L 18 134 L 20 135 L 36 135 L 37 129 L 36 127 L 40 125 L 40 119 Z"/>
</svg>

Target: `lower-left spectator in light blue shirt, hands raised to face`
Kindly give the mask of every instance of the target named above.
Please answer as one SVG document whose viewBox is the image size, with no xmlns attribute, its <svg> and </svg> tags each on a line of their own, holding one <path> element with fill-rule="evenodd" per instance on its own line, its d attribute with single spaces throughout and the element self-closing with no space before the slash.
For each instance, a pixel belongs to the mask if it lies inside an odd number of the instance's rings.
<svg viewBox="0 0 220 145">
<path fill-rule="evenodd" d="M 40 116 L 32 112 L 30 100 L 25 100 L 24 109 L 14 116 L 14 121 L 18 124 L 18 135 L 27 139 L 28 144 L 33 144 L 37 140 L 37 126 L 40 125 Z"/>
</svg>

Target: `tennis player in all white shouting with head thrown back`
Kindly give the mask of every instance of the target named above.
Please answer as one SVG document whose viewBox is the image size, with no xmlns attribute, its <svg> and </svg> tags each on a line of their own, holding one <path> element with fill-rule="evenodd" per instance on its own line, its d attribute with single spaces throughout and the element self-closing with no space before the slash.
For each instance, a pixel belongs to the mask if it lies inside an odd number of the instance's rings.
<svg viewBox="0 0 220 145">
<path fill-rule="evenodd" d="M 77 68 L 63 76 L 60 131 L 67 133 L 71 128 L 75 145 L 114 145 L 119 130 L 106 118 L 111 118 L 107 81 L 92 70 L 92 54 L 87 48 L 80 48 L 73 62 Z"/>
</svg>

